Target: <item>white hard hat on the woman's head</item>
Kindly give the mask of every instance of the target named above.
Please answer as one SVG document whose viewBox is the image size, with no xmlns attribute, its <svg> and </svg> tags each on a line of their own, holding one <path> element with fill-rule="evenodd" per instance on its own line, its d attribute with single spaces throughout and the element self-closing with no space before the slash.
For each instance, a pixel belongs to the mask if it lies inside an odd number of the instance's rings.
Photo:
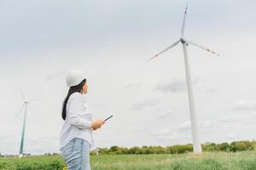
<svg viewBox="0 0 256 170">
<path fill-rule="evenodd" d="M 79 83 L 82 82 L 84 79 L 85 79 L 85 76 L 82 71 L 79 71 L 79 70 L 68 71 L 67 77 L 66 77 L 67 87 L 79 85 Z"/>
</svg>

